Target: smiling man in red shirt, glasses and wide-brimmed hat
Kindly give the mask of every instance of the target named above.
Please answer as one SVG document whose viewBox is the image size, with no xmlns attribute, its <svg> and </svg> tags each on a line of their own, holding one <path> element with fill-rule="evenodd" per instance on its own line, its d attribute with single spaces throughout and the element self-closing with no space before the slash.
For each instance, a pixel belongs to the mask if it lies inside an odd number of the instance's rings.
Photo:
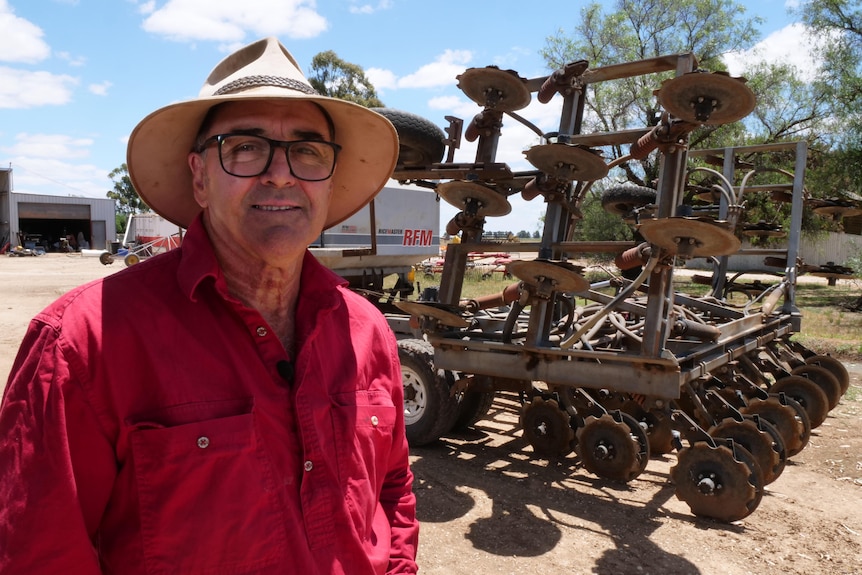
<svg viewBox="0 0 862 575">
<path fill-rule="evenodd" d="M 132 182 L 188 231 L 31 323 L 0 408 L 0 573 L 416 572 L 394 337 L 306 250 L 397 154 L 272 38 L 137 126 Z"/>
</svg>

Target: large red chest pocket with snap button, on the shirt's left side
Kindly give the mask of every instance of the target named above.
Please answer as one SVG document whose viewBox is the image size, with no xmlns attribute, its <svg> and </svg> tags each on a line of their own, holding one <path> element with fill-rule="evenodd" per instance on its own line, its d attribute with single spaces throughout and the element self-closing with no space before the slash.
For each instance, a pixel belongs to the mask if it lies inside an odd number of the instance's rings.
<svg viewBox="0 0 862 575">
<path fill-rule="evenodd" d="M 131 432 L 151 573 L 252 573 L 286 548 L 281 502 L 245 413 Z"/>
</svg>

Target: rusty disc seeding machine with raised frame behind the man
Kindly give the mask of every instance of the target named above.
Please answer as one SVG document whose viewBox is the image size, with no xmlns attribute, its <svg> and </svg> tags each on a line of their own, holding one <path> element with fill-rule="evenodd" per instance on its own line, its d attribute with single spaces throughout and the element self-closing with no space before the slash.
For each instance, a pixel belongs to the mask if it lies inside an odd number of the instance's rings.
<svg viewBox="0 0 862 575">
<path fill-rule="evenodd" d="M 663 111 L 655 126 L 581 133 L 585 87 L 665 72 L 672 77 L 656 87 Z M 628 482 L 652 455 L 674 453 L 670 479 L 694 514 L 727 522 L 748 516 L 849 385 L 840 362 L 792 338 L 802 320 L 795 289 L 805 143 L 690 150 L 694 130 L 741 120 L 755 105 L 744 80 L 700 70 L 691 54 L 600 68 L 578 61 L 533 79 L 470 68 L 457 79 L 480 109 L 466 128 L 447 117 L 444 134 L 418 116 L 380 110 L 401 139 L 393 177 L 431 188 L 459 210 L 446 230 L 461 241 L 446 250 L 439 287 L 395 301 L 390 314 L 401 314 L 393 326 L 412 319 L 413 329 L 399 333 L 411 444 L 477 422 L 495 393 L 510 392 L 536 456 L 576 451 L 587 471 Z M 543 104 L 562 98 L 557 131 L 543 133 L 518 115 L 534 94 Z M 496 161 L 504 119 L 537 134 L 524 152 L 530 169 Z M 473 162 L 454 161 L 462 137 L 476 142 Z M 607 161 L 608 146 L 629 153 Z M 590 186 L 651 153 L 660 162 L 654 188 L 602 192 L 603 206 L 642 241 L 576 240 Z M 791 158 L 794 170 L 778 170 L 784 183 L 758 184 L 759 174 L 776 170 L 750 161 L 770 154 Z M 698 190 L 708 200 L 695 206 L 691 181 L 703 172 L 712 184 Z M 531 257 L 508 264 L 513 282 L 502 292 L 462 297 L 468 254 L 501 250 L 483 239 L 486 218 L 507 214 L 515 194 L 546 203 L 540 240 L 518 246 Z M 741 250 L 752 194 L 786 202 L 786 247 Z M 726 283 L 728 258 L 741 251 L 767 256 L 783 272 L 737 303 L 726 297 Z M 612 255 L 627 273 L 590 283 L 574 262 L 595 253 Z M 713 268 L 705 295 L 675 289 L 676 267 L 693 258 Z"/>
</svg>

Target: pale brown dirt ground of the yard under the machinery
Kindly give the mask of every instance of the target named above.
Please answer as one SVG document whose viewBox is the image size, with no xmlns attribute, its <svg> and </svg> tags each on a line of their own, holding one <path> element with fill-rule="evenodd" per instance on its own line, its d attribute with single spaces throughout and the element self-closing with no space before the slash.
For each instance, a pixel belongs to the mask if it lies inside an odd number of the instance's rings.
<svg viewBox="0 0 862 575">
<path fill-rule="evenodd" d="M 0 257 L 2 380 L 36 312 L 122 268 L 79 255 Z M 729 525 L 693 516 L 676 498 L 673 454 L 626 485 L 591 475 L 576 455 L 533 458 L 517 402 L 501 394 L 468 434 L 413 450 L 420 572 L 862 574 L 862 366 L 846 365 L 848 396 L 758 509 Z"/>
</svg>

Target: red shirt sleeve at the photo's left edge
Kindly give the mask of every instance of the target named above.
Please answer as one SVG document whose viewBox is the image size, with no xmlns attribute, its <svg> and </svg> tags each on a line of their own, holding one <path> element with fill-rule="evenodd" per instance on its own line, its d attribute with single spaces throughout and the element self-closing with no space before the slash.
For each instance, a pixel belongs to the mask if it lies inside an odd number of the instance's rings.
<svg viewBox="0 0 862 575">
<path fill-rule="evenodd" d="M 59 326 L 34 320 L 0 404 L 0 572 L 100 573 L 93 541 L 116 457 Z"/>
</svg>

